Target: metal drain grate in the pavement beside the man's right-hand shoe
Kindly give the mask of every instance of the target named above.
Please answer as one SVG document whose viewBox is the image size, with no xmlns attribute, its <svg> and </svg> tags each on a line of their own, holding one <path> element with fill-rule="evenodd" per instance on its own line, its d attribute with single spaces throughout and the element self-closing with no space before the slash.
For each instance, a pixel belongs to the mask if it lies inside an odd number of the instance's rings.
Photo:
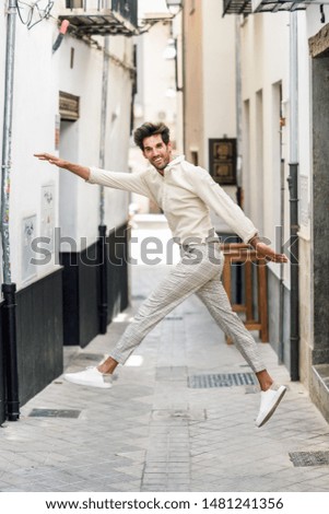
<svg viewBox="0 0 329 514">
<path fill-rule="evenodd" d="M 212 375 L 192 375 L 188 377 L 188 387 L 195 389 L 255 384 L 258 384 L 258 382 L 254 373 L 221 373 Z"/>
</svg>

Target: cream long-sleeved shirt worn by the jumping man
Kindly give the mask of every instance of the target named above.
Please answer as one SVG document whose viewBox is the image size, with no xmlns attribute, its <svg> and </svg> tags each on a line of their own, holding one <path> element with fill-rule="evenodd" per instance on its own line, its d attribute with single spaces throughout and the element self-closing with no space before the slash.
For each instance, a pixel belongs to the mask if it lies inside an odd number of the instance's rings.
<svg viewBox="0 0 329 514">
<path fill-rule="evenodd" d="M 257 234 L 251 221 L 210 174 L 188 163 L 184 155 L 171 161 L 164 168 L 164 175 L 153 166 L 140 173 L 107 172 L 97 167 L 90 171 L 90 184 L 151 198 L 163 210 L 178 244 L 203 244 L 214 240 L 210 209 L 245 243 Z"/>
</svg>

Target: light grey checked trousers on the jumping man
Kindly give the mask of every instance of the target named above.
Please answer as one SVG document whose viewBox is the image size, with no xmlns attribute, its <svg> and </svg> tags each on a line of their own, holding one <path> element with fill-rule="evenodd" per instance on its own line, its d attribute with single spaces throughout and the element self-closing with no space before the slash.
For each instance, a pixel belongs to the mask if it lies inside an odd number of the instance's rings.
<svg viewBox="0 0 329 514">
<path fill-rule="evenodd" d="M 110 357 L 124 364 L 144 337 L 173 308 L 196 293 L 221 329 L 232 338 L 251 370 L 266 369 L 257 343 L 232 311 L 221 281 L 224 256 L 218 243 L 184 247 L 180 261 L 142 303 Z"/>
</svg>

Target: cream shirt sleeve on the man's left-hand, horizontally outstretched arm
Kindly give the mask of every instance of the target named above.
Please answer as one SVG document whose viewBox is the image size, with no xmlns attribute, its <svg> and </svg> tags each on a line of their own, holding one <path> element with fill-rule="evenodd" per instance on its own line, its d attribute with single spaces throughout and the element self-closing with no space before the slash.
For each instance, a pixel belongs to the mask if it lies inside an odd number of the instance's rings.
<svg viewBox="0 0 329 514">
<path fill-rule="evenodd" d="M 125 191 L 138 192 L 149 197 L 150 190 L 143 179 L 141 173 L 120 173 L 108 172 L 98 167 L 90 167 L 89 184 L 98 184 L 99 186 L 111 187 L 114 189 L 122 189 Z"/>
</svg>

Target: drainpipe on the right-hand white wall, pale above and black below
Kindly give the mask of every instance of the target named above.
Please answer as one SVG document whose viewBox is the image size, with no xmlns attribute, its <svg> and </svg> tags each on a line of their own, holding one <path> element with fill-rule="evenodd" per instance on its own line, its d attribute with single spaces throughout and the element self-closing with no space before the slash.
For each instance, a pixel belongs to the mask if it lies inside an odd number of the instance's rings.
<svg viewBox="0 0 329 514">
<path fill-rule="evenodd" d="M 299 265 L 298 265 L 298 32 L 297 12 L 290 13 L 290 374 L 299 379 Z"/>
</svg>

